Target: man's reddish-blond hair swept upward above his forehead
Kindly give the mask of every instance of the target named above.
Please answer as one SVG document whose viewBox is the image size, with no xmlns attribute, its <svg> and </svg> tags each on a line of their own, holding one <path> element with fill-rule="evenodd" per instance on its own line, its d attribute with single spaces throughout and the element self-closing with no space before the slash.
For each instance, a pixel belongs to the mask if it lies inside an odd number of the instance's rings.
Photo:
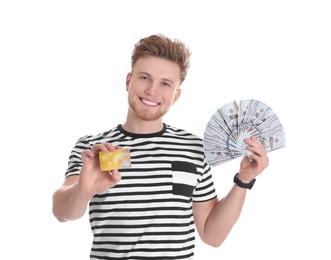
<svg viewBox="0 0 331 260">
<path fill-rule="evenodd" d="M 180 67 L 181 83 L 185 80 L 190 67 L 191 52 L 183 42 L 178 39 L 170 39 L 162 34 L 140 39 L 134 45 L 131 55 L 131 69 L 138 59 L 145 56 L 154 56 L 175 62 Z"/>
</svg>

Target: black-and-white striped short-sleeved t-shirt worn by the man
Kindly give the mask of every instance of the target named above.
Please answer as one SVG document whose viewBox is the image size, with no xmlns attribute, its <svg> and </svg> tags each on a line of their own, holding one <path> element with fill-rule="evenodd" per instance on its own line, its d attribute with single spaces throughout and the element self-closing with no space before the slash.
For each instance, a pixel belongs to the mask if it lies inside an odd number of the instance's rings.
<svg viewBox="0 0 331 260">
<path fill-rule="evenodd" d="M 116 186 L 89 203 L 90 259 L 193 259 L 192 202 L 216 197 L 202 139 L 165 124 L 153 134 L 118 125 L 80 138 L 66 177 L 80 173 L 82 151 L 104 142 L 129 148 L 131 168 L 119 170 Z"/>
</svg>

